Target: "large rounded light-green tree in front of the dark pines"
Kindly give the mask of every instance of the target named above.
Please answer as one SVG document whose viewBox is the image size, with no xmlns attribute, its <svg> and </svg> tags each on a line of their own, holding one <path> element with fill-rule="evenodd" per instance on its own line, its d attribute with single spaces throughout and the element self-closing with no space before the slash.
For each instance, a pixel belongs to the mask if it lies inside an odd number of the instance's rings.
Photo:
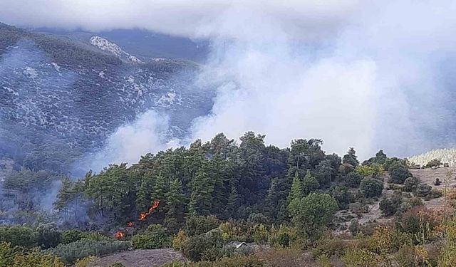
<svg viewBox="0 0 456 267">
<path fill-rule="evenodd" d="M 336 199 L 329 194 L 311 193 L 309 196 L 291 202 L 289 207 L 294 224 L 309 237 L 314 237 L 321 227 L 331 221 L 338 209 Z"/>
</svg>

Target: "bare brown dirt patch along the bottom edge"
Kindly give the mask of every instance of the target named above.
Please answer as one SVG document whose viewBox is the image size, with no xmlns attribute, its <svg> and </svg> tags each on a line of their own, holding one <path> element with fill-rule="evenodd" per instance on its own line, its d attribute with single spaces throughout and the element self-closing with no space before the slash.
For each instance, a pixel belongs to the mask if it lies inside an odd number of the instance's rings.
<svg viewBox="0 0 456 267">
<path fill-rule="evenodd" d="M 99 258 L 91 267 L 107 267 L 113 263 L 122 263 L 126 267 L 156 267 L 172 261 L 186 261 L 181 253 L 172 248 L 162 249 L 137 249 L 123 251 L 113 255 Z"/>
</svg>

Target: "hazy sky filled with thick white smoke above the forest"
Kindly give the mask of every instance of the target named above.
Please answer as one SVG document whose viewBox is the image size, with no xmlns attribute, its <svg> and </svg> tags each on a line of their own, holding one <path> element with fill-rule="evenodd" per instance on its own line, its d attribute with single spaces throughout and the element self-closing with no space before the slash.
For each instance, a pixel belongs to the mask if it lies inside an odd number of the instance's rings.
<svg viewBox="0 0 456 267">
<path fill-rule="evenodd" d="M 354 146 L 367 157 L 438 146 L 426 139 L 433 131 L 453 145 L 445 131 L 454 122 L 441 118 L 452 117 L 452 74 L 442 70 L 456 62 L 454 14 L 456 1 L 446 0 L 3 0 L 0 21 L 209 38 L 199 83 L 218 94 L 192 137 L 254 130 L 280 146 L 321 137 L 328 152 Z M 163 126 L 143 128 L 152 129 L 141 132 L 147 139 Z"/>
</svg>

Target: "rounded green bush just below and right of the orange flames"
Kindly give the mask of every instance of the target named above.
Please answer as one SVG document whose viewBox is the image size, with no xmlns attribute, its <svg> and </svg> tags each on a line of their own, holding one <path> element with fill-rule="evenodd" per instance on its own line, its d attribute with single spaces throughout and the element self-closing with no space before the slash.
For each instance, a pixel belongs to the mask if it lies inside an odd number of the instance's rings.
<svg viewBox="0 0 456 267">
<path fill-rule="evenodd" d="M 133 248 L 155 249 L 171 246 L 170 236 L 167 236 L 165 227 L 160 224 L 151 224 L 145 234 L 137 234 L 132 238 Z"/>
</svg>

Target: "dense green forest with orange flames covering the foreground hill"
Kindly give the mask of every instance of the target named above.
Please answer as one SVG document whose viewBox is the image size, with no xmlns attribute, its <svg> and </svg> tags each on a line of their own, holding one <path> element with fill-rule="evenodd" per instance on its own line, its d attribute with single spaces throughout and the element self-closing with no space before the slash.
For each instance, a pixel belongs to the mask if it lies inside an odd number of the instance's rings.
<svg viewBox="0 0 456 267">
<path fill-rule="evenodd" d="M 382 150 L 359 162 L 353 148 L 326 155 L 322 140 L 281 149 L 264 138 L 219 134 L 78 180 L 14 172 L 2 183 L 0 266 L 90 266 L 168 247 L 195 262 L 175 267 L 455 266 L 456 194 L 446 181 L 420 183 L 413 162 Z M 49 208 L 43 196 L 53 193 Z M 424 206 L 442 194 L 446 211 Z M 388 221 L 363 219 L 375 205 Z"/>
</svg>

